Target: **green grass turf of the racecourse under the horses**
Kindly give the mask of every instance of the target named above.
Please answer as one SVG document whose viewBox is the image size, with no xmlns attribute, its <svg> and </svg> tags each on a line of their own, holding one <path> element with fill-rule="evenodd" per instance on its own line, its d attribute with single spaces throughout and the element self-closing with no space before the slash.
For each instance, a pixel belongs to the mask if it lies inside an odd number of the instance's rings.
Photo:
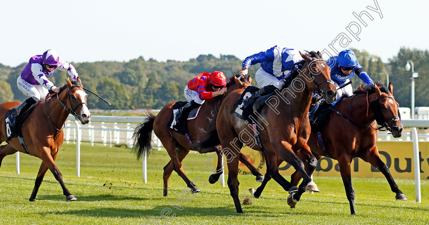
<svg viewBox="0 0 429 225">
<path fill-rule="evenodd" d="M 20 174 L 15 173 L 15 156 L 7 156 L 0 168 L 0 223 L 2 224 L 280 224 L 280 223 L 429 223 L 429 181 L 421 181 L 422 203 L 415 202 L 414 180 L 395 179 L 409 201 L 395 201 L 385 179 L 353 178 L 357 215 L 350 215 L 340 177 L 314 177 L 320 193 L 304 193 L 295 209 L 288 196 L 270 181 L 260 199 L 242 205 L 235 213 L 227 187 L 208 184 L 206 167 L 210 154 L 190 152 L 183 168 L 196 181 L 201 193 L 188 194 L 185 183 L 173 172 L 169 196 L 162 196 L 163 166 L 170 160 L 165 151 L 148 157 L 148 183 L 142 182 L 141 160 L 126 148 L 82 144 L 81 176 L 76 177 L 76 146 L 64 144 L 56 160 L 66 187 L 78 201 L 65 202 L 59 183 L 48 171 L 37 194 L 29 202 L 41 160 L 20 154 Z M 289 178 L 287 178 L 289 180 Z M 251 196 L 258 187 L 253 176 L 239 175 L 240 198 Z"/>
</svg>

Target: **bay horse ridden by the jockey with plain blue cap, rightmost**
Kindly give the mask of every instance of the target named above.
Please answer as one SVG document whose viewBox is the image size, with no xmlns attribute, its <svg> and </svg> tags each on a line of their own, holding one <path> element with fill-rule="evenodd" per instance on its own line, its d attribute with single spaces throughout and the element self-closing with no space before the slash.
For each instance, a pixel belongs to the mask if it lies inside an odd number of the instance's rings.
<svg viewBox="0 0 429 225">
<path fill-rule="evenodd" d="M 375 120 L 391 131 L 394 137 L 400 137 L 403 128 L 399 118 L 399 104 L 393 97 L 392 83 L 389 83 L 387 90 L 383 85 L 378 84 L 378 86 L 360 87 L 352 97 L 343 96 L 343 99 L 333 107 L 338 113 L 330 113 L 325 122 L 326 125 L 321 130 L 325 150 L 318 144 L 317 131 L 312 130 L 308 140 L 308 145 L 318 160 L 322 156 L 338 160 L 351 214 L 356 213 L 350 174 L 350 163 L 354 157 L 369 162 L 383 173 L 391 190 L 396 193 L 396 200 L 407 200 L 393 180 L 389 168 L 380 159 L 375 145 L 377 141 Z M 348 119 L 350 122 L 347 121 Z M 282 160 L 279 160 L 278 165 L 281 162 Z M 270 176 L 266 175 L 261 186 L 251 190 L 256 198 L 259 198 L 270 179 Z M 295 172 L 291 182 L 297 185 L 300 179 L 300 174 Z"/>
</svg>

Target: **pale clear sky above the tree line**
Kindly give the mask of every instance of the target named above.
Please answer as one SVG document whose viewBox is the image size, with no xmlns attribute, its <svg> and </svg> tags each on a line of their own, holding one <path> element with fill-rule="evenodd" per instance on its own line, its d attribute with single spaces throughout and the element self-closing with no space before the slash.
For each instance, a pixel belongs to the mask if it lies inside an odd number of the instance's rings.
<svg viewBox="0 0 429 225">
<path fill-rule="evenodd" d="M 415 0 L 2 1 L 0 63 L 15 67 L 47 49 L 67 62 L 245 59 L 274 45 L 330 54 L 329 45 L 356 48 L 387 63 L 402 46 L 429 48 L 428 9 Z M 366 26 L 353 12 L 363 12 Z"/>
</svg>

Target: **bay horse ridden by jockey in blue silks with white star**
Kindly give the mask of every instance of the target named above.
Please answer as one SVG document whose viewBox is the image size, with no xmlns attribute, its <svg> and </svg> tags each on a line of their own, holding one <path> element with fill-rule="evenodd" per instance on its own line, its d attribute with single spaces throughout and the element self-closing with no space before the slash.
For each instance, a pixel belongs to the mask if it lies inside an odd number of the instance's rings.
<svg viewBox="0 0 429 225">
<path fill-rule="evenodd" d="M 307 184 L 312 181 L 311 174 L 317 165 L 317 159 L 312 155 L 307 146 L 310 134 L 308 121 L 308 109 L 314 91 L 319 91 L 325 95 L 328 102 L 336 100 L 336 88 L 330 80 L 330 68 L 322 60 L 319 52 L 308 52 L 308 55 L 301 54 L 303 61 L 300 62 L 300 69 L 292 72 L 293 81 L 289 87 L 283 87 L 280 91 L 271 96 L 260 110 L 260 117 L 257 116 L 258 132 L 261 146 L 265 149 L 265 159 L 267 161 L 267 172 L 285 190 L 293 187 L 278 173 L 276 163 L 277 157 L 281 158 L 296 168 L 304 177 L 304 182 L 299 186 L 298 192 L 293 192 L 288 198 L 288 204 L 295 206 L 301 194 L 306 190 Z M 227 157 L 228 165 L 228 187 L 235 209 L 242 213 L 239 200 L 239 181 L 237 179 L 239 157 L 243 144 L 250 148 L 262 151 L 256 144 L 253 131 L 244 120 L 231 114 L 233 105 L 240 98 L 243 90 L 237 90 L 226 96 L 218 115 L 217 131 L 220 143 Z M 217 136 L 209 136 L 207 140 Z M 200 148 L 209 148 L 207 142 L 200 143 Z M 295 153 L 298 153 L 296 155 Z M 308 161 L 312 166 L 305 171 L 304 163 Z"/>
</svg>

